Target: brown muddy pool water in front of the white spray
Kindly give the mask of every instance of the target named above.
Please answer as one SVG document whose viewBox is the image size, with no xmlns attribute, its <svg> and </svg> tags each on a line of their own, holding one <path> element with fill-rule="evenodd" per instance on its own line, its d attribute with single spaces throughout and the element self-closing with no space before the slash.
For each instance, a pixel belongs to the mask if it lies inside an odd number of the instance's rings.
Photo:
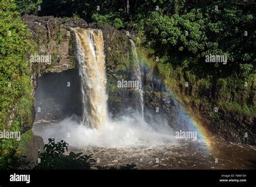
<svg viewBox="0 0 256 187">
<path fill-rule="evenodd" d="M 42 135 L 40 132 L 53 124 L 53 121 L 37 121 L 33 132 Z M 256 146 L 228 142 L 217 136 L 212 136 L 207 143 L 178 139 L 176 145 L 70 146 L 69 151 L 93 154 L 97 165 L 109 167 L 134 163 L 138 169 L 256 169 Z"/>
</svg>

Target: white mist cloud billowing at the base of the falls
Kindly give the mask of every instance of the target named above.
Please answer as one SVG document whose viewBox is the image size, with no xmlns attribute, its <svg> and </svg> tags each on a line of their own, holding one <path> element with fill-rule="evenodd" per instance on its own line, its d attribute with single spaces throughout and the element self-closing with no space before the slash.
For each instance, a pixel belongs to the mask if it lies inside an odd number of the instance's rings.
<svg viewBox="0 0 256 187">
<path fill-rule="evenodd" d="M 44 125 L 44 128 L 33 129 L 36 135 L 64 140 L 70 146 L 86 147 L 137 147 L 177 145 L 176 139 L 167 121 L 158 124 L 146 123 L 139 112 L 131 108 L 120 116 L 106 121 L 103 128 L 90 128 L 82 124 L 76 116 L 66 118 L 56 124 Z"/>
</svg>

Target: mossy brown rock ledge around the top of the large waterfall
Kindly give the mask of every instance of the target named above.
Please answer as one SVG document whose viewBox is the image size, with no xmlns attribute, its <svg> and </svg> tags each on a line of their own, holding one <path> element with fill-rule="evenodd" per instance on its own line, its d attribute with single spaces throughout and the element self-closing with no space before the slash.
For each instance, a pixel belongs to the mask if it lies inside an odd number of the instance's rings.
<svg viewBox="0 0 256 187">
<path fill-rule="evenodd" d="M 119 64 L 125 63 L 129 52 L 129 39 L 112 26 L 87 24 L 83 19 L 38 17 L 24 15 L 24 22 L 32 32 L 38 55 L 51 55 L 51 63 L 32 63 L 33 85 L 44 73 L 59 73 L 76 68 L 74 33 L 71 27 L 98 28 L 103 32 L 106 56 L 106 72 L 110 76 Z M 31 54 L 28 54 L 28 59 Z"/>
</svg>

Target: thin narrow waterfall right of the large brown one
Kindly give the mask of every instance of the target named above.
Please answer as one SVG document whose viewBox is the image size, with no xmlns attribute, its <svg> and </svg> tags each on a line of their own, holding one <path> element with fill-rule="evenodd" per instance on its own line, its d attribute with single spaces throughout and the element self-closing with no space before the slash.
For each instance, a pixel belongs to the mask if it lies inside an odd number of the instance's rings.
<svg viewBox="0 0 256 187">
<path fill-rule="evenodd" d="M 134 45 L 134 42 L 130 40 L 131 42 L 131 53 L 132 56 L 134 56 L 134 61 L 135 61 L 135 74 L 136 74 L 136 79 L 139 81 L 139 104 L 140 104 L 140 111 L 142 114 L 142 118 L 144 118 L 144 103 L 143 103 L 143 88 L 142 88 L 142 72 L 140 70 L 140 64 L 139 64 L 139 57 L 137 54 L 137 49 L 136 46 Z"/>
</svg>

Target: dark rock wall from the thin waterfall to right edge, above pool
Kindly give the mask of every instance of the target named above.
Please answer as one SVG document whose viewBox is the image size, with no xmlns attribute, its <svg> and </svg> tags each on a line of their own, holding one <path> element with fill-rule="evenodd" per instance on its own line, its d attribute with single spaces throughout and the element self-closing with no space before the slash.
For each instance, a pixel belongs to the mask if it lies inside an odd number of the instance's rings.
<svg viewBox="0 0 256 187">
<path fill-rule="evenodd" d="M 192 116 L 196 116 L 201 124 L 205 125 L 212 135 L 219 135 L 232 142 L 250 143 L 256 145 L 256 118 L 255 116 L 242 116 L 231 111 L 214 108 L 204 104 L 197 104 L 192 99 L 187 101 L 184 96 L 193 96 L 193 89 L 180 87 L 180 102 L 173 98 L 161 83 L 160 76 L 154 70 L 144 70 L 144 103 L 147 110 L 156 114 L 159 107 L 161 116 L 169 121 L 174 130 L 186 129 L 187 121 L 180 116 L 183 106 Z M 202 90 L 210 94 L 210 90 Z M 192 113 L 191 113 L 192 112 Z"/>
</svg>

